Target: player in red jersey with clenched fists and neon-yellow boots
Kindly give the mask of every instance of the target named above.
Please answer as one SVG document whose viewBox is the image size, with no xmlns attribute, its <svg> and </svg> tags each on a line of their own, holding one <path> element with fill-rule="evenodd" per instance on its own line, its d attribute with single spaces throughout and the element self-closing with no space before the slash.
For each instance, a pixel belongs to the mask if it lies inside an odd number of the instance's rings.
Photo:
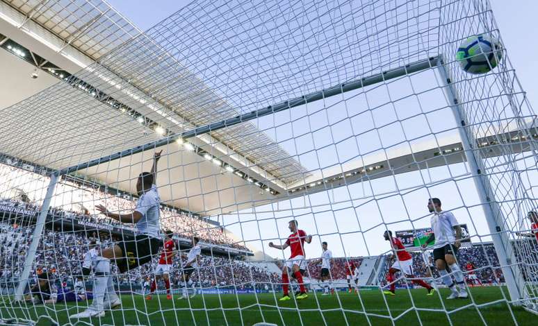
<svg viewBox="0 0 538 326">
<path fill-rule="evenodd" d="M 295 298 L 297 300 L 302 300 L 308 298 L 307 290 L 304 288 L 304 283 L 302 282 L 301 269 L 307 267 L 307 261 L 304 259 L 304 242 L 311 243 L 312 236 L 307 235 L 303 230 L 297 229 L 297 221 L 293 220 L 288 223 L 288 228 L 290 228 L 291 235 L 286 240 L 286 243 L 283 245 L 275 245 L 272 242 L 269 243 L 271 248 L 284 250 L 288 247 L 291 249 L 290 259 L 286 261 L 284 268 L 282 268 L 282 289 L 284 289 L 284 296 L 280 298 L 280 301 L 290 300 L 289 296 L 289 277 L 288 273 L 291 270 L 293 277 L 297 280 L 299 284 L 300 293 Z"/>
</svg>

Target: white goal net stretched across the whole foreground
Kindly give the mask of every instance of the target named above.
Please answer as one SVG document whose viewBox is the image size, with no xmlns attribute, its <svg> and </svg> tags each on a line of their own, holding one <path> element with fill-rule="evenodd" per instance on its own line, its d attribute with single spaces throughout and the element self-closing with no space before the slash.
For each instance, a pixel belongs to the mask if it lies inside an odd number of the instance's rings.
<svg viewBox="0 0 538 326">
<path fill-rule="evenodd" d="M 502 44 L 485 0 L 190 3 L 0 109 L 0 323 L 524 324 L 538 130 Z"/>
</svg>

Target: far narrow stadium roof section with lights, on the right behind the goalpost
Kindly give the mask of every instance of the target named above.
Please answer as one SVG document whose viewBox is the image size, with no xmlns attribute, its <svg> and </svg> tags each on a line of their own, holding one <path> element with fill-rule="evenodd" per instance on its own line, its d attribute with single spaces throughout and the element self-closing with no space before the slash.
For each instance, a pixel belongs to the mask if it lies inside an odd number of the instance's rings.
<svg viewBox="0 0 538 326">
<path fill-rule="evenodd" d="M 527 118 L 524 126 L 506 123 L 502 130 L 494 128 L 483 132 L 480 136 L 476 139 L 476 143 L 481 157 L 497 157 L 505 155 L 505 151 L 509 150 L 510 153 L 521 154 L 514 157 L 514 161 L 525 160 L 534 155 L 532 143 L 538 141 L 538 121 Z M 302 196 L 356 182 L 466 162 L 463 147 L 455 130 L 437 139 L 400 144 L 384 153 L 362 155 L 360 160 L 329 166 L 312 173 L 308 178 L 290 185 L 288 194 Z"/>
</svg>

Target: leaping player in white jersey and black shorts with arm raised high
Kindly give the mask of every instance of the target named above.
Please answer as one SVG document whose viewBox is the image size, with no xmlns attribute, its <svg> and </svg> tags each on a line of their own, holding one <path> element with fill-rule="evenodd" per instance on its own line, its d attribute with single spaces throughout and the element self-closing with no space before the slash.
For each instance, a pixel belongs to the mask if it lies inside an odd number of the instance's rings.
<svg viewBox="0 0 538 326">
<path fill-rule="evenodd" d="M 140 198 L 133 212 L 115 214 L 103 205 L 97 205 L 95 207 L 97 211 L 109 218 L 113 218 L 121 223 L 135 224 L 135 238 L 123 239 L 123 241 L 115 243 L 113 248 L 102 250 L 101 257 L 105 258 L 105 262 L 101 262 L 99 265 L 100 270 L 98 273 L 108 275 L 108 282 L 104 285 L 102 282 L 96 284 L 97 288 L 94 289 L 94 297 L 97 297 L 97 293 L 106 293 L 106 302 L 102 305 L 97 303 L 97 305 L 93 306 L 94 309 L 88 308 L 79 314 L 70 316 L 70 318 L 91 318 L 101 315 L 101 311 L 104 311 L 103 309 L 106 309 L 106 307 L 113 307 L 120 304 L 120 298 L 115 293 L 112 280 L 111 259 L 115 260 L 120 273 L 125 273 L 152 261 L 152 257 L 158 254 L 159 248 L 163 245 L 163 241 L 158 235 L 160 230 L 159 209 L 161 207 L 161 198 L 158 196 L 156 187 L 157 163 L 161 158 L 161 153 L 162 151 L 159 151 L 154 154 L 151 172 L 142 172 L 138 175 L 136 191 Z"/>
</svg>

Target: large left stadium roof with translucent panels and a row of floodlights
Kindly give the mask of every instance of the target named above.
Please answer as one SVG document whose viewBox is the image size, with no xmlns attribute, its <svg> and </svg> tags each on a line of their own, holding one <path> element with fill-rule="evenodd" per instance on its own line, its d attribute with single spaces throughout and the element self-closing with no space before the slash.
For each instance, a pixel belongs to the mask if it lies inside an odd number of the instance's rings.
<svg viewBox="0 0 538 326">
<path fill-rule="evenodd" d="M 60 169 L 156 140 L 159 136 L 151 132 L 156 126 L 170 133 L 181 132 L 238 114 L 202 80 L 168 55 L 166 49 L 141 33 L 105 2 L 2 1 L 0 18 L 0 24 L 6 27 L 2 28 L 6 35 L 0 36 L 0 42 L 15 42 L 16 49 L 28 54 L 21 58 L 22 55 L 17 55 L 13 49 L 1 53 L 5 59 L 1 60 L 1 69 L 15 78 L 3 85 L 6 86 L 2 88 L 6 96 L 0 102 L 0 108 L 5 108 L 1 121 L 8 126 L 2 140 L 3 144 L 9 144 L 2 148 L 6 154 Z M 115 48 L 117 50 L 111 52 Z M 46 63 L 41 65 L 42 62 L 35 60 L 34 55 L 44 58 Z M 33 61 L 28 60 L 30 56 Z M 26 59 L 26 62 L 21 59 Z M 92 63 L 97 59 L 99 63 Z M 124 60 L 131 61 L 127 66 L 120 65 Z M 76 77 L 72 76 L 68 81 L 66 77 L 63 82 L 55 79 L 50 68 L 48 71 L 44 69 L 51 63 L 65 71 L 66 75 L 74 74 Z M 77 72 L 83 67 L 84 70 Z M 32 80 L 30 75 L 35 68 L 49 74 L 39 71 L 39 78 Z M 170 74 L 163 74 L 164 71 Z M 58 77 L 57 71 L 56 75 Z M 156 79 L 155 76 L 161 78 Z M 91 85 L 92 89 L 97 88 L 107 96 L 113 96 L 115 101 L 128 105 L 128 112 L 114 110 L 113 105 L 102 101 L 102 98 L 84 92 L 82 87 L 74 87 L 80 80 L 84 81 L 84 85 Z M 42 92 L 38 92 L 41 89 Z M 136 115 L 133 114 L 135 110 Z M 143 117 L 145 122 L 138 123 L 134 117 Z M 29 120 L 34 123 L 29 123 Z M 67 128 L 59 135 L 60 130 L 65 129 L 63 126 L 73 128 Z M 92 126 L 93 129 L 88 130 L 84 126 Z M 15 139 L 13 135 L 16 134 L 24 137 Z M 264 180 L 264 185 L 270 185 L 275 191 L 283 191 L 287 183 L 307 174 L 291 155 L 251 123 L 211 132 L 191 142 L 254 180 Z M 50 153 L 51 148 L 54 148 L 54 154 Z M 177 159 L 192 163 L 193 171 L 189 171 L 189 175 L 202 178 L 203 175 L 215 174 L 215 166 L 211 162 L 205 162 L 196 153 L 185 152 L 178 153 Z M 124 164 L 119 161 L 114 164 Z M 132 162 L 140 163 L 142 156 L 130 157 L 129 162 L 130 166 Z M 111 169 L 114 164 L 106 164 L 106 169 Z M 101 170 L 97 166 L 88 173 Z M 94 176 L 99 178 L 100 175 Z M 108 175 L 101 180 L 133 191 L 129 178 L 132 175 L 127 173 L 115 178 Z M 193 187 L 189 187 L 189 194 L 168 191 L 172 195 L 164 195 L 163 200 L 193 212 L 207 213 L 217 207 L 236 210 L 234 203 L 237 201 L 252 205 L 253 199 L 264 201 L 272 197 L 256 185 L 249 185 L 245 178 L 232 178 L 238 180 L 231 184 L 245 185 L 241 188 L 245 190 L 232 189 L 224 200 L 222 194 L 215 194 L 212 200 L 213 187 L 206 182 L 199 190 L 200 194 L 205 194 L 204 198 L 196 200 L 192 194 Z M 229 177 L 222 175 L 218 179 Z M 122 184 L 121 181 L 127 183 Z M 216 182 L 219 188 L 227 183 L 226 180 Z M 252 194 L 256 194 L 254 198 Z M 174 200 L 187 197 L 186 200 Z"/>
</svg>

